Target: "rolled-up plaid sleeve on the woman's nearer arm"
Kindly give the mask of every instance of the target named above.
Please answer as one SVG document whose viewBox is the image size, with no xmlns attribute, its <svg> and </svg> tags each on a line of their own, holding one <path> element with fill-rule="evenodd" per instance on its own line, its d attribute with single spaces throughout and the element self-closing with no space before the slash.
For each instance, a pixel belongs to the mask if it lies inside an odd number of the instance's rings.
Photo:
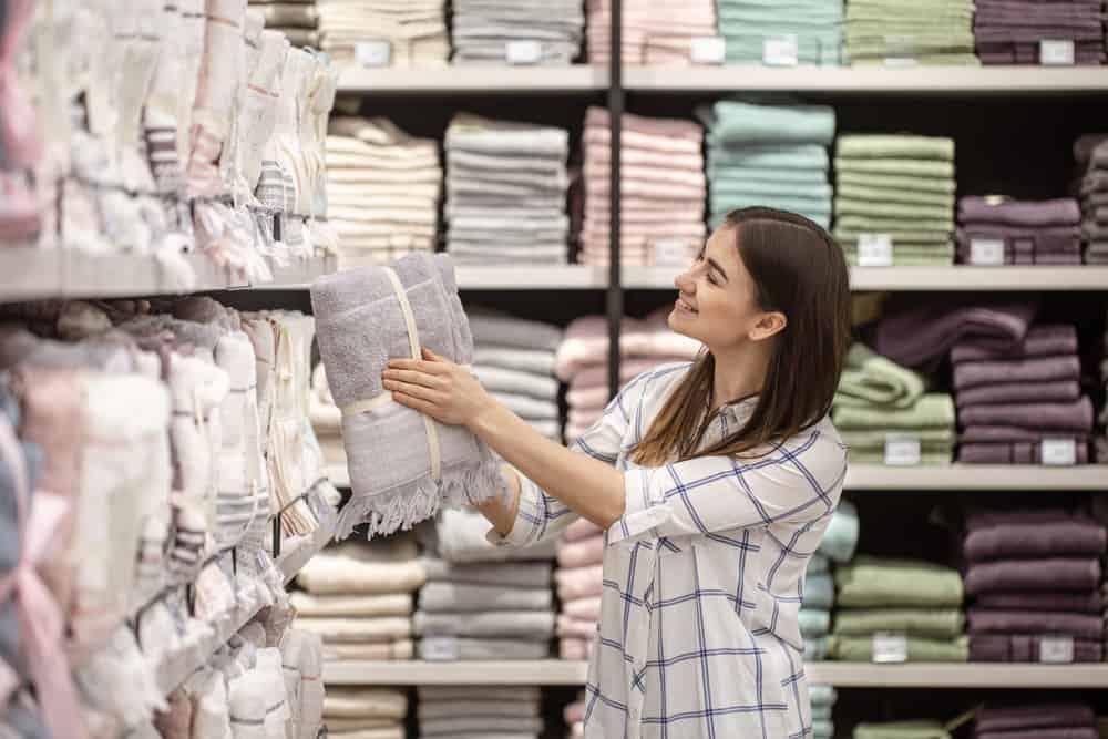
<svg viewBox="0 0 1108 739">
<path fill-rule="evenodd" d="M 700 456 L 627 470 L 626 505 L 608 528 L 608 545 L 806 523 L 828 514 L 835 505 L 832 491 L 847 473 L 845 450 L 818 430 L 797 441 L 757 459 Z"/>
</svg>

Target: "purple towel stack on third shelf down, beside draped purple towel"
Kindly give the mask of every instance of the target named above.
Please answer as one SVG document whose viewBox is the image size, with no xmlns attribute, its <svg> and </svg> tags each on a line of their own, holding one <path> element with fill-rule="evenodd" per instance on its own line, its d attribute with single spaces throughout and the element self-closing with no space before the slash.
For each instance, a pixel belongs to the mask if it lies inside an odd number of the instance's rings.
<svg viewBox="0 0 1108 739">
<path fill-rule="evenodd" d="M 1032 326 L 1004 350 L 966 339 L 954 346 L 951 361 L 960 462 L 1037 464 L 1047 439 L 1073 442 L 1076 463 L 1088 462 L 1092 401 L 1081 392 L 1074 326 Z"/>
</svg>

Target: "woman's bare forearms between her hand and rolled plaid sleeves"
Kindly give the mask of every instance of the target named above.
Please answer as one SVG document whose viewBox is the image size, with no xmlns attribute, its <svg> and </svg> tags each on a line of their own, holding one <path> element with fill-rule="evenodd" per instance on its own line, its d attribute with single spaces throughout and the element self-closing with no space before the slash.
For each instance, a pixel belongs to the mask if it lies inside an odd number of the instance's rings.
<svg viewBox="0 0 1108 739">
<path fill-rule="evenodd" d="M 582 517 L 607 528 L 623 515 L 623 473 L 609 464 L 546 439 L 500 403 L 490 403 L 469 425 L 509 464 Z M 512 482 L 509 478 L 510 489 Z M 514 482 L 517 485 L 519 479 Z M 511 519 L 500 507 L 491 512 L 481 509 L 502 534 L 511 531 L 515 520 L 517 493 L 512 500 Z"/>
</svg>

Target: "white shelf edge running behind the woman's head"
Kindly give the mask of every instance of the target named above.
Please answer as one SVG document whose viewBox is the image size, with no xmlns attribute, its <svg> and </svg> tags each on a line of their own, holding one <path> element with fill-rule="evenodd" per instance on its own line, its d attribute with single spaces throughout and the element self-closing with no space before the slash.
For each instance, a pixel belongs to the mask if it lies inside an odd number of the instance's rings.
<svg viewBox="0 0 1108 739">
<path fill-rule="evenodd" d="M 1108 73 L 1106 73 L 1108 76 Z M 624 267 L 628 289 L 673 290 L 681 267 Z M 1108 267 L 852 267 L 853 290 L 1108 290 Z"/>
</svg>

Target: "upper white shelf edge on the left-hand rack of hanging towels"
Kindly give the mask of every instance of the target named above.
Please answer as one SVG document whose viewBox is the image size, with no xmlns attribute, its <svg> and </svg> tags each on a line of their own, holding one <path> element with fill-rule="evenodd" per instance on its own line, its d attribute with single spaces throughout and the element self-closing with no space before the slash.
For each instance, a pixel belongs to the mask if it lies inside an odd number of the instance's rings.
<svg viewBox="0 0 1108 739">
<path fill-rule="evenodd" d="M 274 280 L 250 285 L 203 254 L 186 254 L 196 275 L 187 291 L 265 287 L 300 288 L 335 271 L 334 257 L 296 259 L 286 265 L 269 259 Z M 14 247 L 0 249 L 0 302 L 42 298 L 122 298 L 184 292 L 148 254 L 85 254 L 73 250 Z"/>
</svg>

